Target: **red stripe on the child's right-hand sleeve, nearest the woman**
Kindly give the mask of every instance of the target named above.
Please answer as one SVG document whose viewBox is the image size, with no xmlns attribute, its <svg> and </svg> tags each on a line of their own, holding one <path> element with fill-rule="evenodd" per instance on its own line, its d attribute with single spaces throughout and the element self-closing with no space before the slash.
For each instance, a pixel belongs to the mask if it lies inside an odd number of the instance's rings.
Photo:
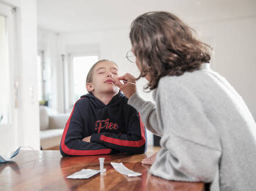
<svg viewBox="0 0 256 191">
<path fill-rule="evenodd" d="M 139 118 L 140 118 L 140 113 L 139 113 Z M 145 138 L 145 129 L 144 129 L 144 124 L 141 121 L 140 118 L 140 133 L 141 133 L 141 139 L 140 140 L 120 140 L 120 139 L 115 139 L 112 137 L 107 137 L 105 135 L 101 135 L 100 140 L 103 140 L 104 142 L 112 143 L 112 144 L 117 144 L 120 146 L 127 146 L 127 147 L 141 147 L 143 144 L 146 143 L 146 138 Z"/>
</svg>

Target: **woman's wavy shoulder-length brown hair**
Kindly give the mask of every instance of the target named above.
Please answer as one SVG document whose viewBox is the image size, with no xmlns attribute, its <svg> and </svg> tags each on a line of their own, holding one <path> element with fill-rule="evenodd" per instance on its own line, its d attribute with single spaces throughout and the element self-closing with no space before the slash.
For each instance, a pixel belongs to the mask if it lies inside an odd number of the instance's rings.
<svg viewBox="0 0 256 191">
<path fill-rule="evenodd" d="M 150 76 L 145 89 L 157 87 L 162 76 L 180 76 L 209 62 L 212 48 L 196 39 L 191 27 L 169 12 L 148 12 L 131 25 L 130 40 L 140 63 L 140 77 Z"/>
</svg>

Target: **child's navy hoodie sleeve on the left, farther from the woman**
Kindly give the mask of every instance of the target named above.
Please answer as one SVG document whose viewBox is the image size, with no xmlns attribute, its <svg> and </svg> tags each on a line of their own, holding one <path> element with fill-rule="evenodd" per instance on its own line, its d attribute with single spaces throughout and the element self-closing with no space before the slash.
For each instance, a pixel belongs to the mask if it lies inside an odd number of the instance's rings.
<svg viewBox="0 0 256 191">
<path fill-rule="evenodd" d="M 77 102 L 71 112 L 70 118 L 68 119 L 63 136 L 61 137 L 60 153 L 64 156 L 73 155 L 99 155 L 109 154 L 111 149 L 103 146 L 99 143 L 88 143 L 82 141 L 86 136 L 83 136 L 83 122 L 79 112 Z"/>
</svg>

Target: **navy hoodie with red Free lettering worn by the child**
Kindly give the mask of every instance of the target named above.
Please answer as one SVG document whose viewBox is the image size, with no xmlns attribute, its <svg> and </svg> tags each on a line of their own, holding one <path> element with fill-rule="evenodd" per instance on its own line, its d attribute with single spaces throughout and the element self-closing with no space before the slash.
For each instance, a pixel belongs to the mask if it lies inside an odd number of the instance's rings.
<svg viewBox="0 0 256 191">
<path fill-rule="evenodd" d="M 91 136 L 91 142 L 84 137 Z M 142 154 L 146 151 L 146 128 L 140 114 L 116 94 L 108 105 L 93 94 L 82 95 L 71 112 L 63 136 L 63 156 L 110 153 Z"/>
</svg>

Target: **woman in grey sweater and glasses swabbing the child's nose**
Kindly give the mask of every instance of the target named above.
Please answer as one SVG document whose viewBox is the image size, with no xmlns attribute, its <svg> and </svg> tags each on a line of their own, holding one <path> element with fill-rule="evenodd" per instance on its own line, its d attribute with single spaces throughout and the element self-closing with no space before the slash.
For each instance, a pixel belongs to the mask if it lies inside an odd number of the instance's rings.
<svg viewBox="0 0 256 191">
<path fill-rule="evenodd" d="M 161 136 L 161 150 L 143 163 L 152 164 L 155 176 L 205 182 L 209 190 L 255 190 L 255 121 L 236 90 L 209 68 L 211 48 L 193 32 L 169 12 L 145 13 L 132 23 L 127 58 L 140 76 L 126 73 L 115 84 L 147 129 Z M 140 77 L 155 103 L 119 81 Z"/>
</svg>

